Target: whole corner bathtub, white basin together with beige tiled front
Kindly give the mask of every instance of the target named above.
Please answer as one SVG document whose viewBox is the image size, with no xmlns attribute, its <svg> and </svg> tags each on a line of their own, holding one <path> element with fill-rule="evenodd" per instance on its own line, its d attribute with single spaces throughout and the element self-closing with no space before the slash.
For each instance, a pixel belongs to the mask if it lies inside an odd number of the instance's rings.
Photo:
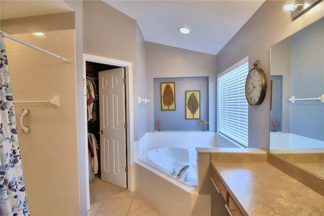
<svg viewBox="0 0 324 216">
<path fill-rule="evenodd" d="M 172 175 L 189 165 L 182 177 Z M 194 147 L 145 148 L 135 162 L 136 193 L 162 215 L 211 215 L 211 196 L 198 194 L 197 151 Z M 187 175 L 188 182 L 184 182 Z"/>
</svg>

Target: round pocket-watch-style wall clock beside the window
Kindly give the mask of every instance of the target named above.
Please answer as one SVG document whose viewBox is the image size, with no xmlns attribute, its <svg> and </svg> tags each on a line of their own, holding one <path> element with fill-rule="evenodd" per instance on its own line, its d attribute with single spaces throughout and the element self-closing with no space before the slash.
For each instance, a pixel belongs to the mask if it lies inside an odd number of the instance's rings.
<svg viewBox="0 0 324 216">
<path fill-rule="evenodd" d="M 264 71 L 257 67 L 259 60 L 253 63 L 254 68 L 249 71 L 245 83 L 245 95 L 249 104 L 259 105 L 262 103 L 267 91 L 267 81 Z"/>
</svg>

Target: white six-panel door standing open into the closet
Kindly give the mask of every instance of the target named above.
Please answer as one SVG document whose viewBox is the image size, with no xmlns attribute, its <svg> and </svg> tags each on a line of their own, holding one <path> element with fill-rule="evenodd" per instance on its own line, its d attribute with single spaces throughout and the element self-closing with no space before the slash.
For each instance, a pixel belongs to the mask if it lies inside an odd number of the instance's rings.
<svg viewBox="0 0 324 216">
<path fill-rule="evenodd" d="M 127 188 L 125 68 L 99 72 L 101 179 Z"/>
</svg>

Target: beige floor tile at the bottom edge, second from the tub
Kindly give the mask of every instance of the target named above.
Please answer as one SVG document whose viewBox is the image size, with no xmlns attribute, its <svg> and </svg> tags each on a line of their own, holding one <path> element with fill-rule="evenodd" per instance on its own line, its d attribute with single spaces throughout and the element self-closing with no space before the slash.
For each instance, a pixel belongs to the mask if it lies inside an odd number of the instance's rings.
<svg viewBox="0 0 324 216">
<path fill-rule="evenodd" d="M 113 215 L 126 216 L 133 198 L 108 198 L 105 200 L 96 216 Z"/>
</svg>

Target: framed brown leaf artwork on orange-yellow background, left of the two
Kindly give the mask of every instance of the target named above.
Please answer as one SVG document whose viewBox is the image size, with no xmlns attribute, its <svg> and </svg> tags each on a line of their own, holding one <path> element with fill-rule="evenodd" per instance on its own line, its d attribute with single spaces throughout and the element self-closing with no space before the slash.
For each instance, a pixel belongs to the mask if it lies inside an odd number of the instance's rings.
<svg viewBox="0 0 324 216">
<path fill-rule="evenodd" d="M 161 110 L 176 110 L 175 83 L 161 83 Z"/>
</svg>

